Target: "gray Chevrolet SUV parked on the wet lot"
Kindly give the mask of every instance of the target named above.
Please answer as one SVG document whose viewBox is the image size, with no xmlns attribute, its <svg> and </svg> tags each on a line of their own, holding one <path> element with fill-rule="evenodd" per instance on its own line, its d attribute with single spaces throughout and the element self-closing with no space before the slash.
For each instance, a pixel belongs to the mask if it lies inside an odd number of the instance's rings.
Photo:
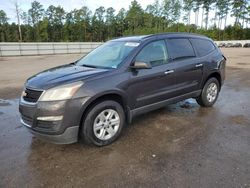
<svg viewBox="0 0 250 188">
<path fill-rule="evenodd" d="M 187 98 L 211 107 L 225 79 L 225 63 L 205 36 L 111 40 L 71 64 L 29 78 L 20 99 L 21 123 L 49 142 L 107 145 L 139 114 Z"/>
</svg>

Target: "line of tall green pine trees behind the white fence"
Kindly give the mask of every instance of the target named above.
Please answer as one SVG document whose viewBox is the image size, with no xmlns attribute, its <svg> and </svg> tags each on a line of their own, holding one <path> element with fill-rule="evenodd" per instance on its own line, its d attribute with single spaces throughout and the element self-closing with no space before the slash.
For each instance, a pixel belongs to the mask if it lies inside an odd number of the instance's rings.
<svg viewBox="0 0 250 188">
<path fill-rule="evenodd" d="M 66 12 L 50 5 L 45 10 L 38 1 L 27 12 L 17 3 L 14 6 L 17 23 L 9 23 L 0 10 L 0 42 L 107 41 L 162 32 L 193 32 L 214 40 L 250 39 L 249 0 L 155 0 L 146 9 L 134 0 L 128 10 L 117 13 L 103 6 L 94 12 L 87 6 Z M 229 17 L 234 19 L 231 25 L 227 25 Z"/>
</svg>

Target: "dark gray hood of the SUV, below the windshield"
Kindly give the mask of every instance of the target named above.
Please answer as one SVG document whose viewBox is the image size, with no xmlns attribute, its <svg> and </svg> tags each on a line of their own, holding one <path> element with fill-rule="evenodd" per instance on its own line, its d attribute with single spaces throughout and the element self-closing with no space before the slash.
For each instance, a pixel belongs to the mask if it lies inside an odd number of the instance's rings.
<svg viewBox="0 0 250 188">
<path fill-rule="evenodd" d="M 63 65 L 40 72 L 30 77 L 26 86 L 36 89 L 49 89 L 57 85 L 84 80 L 90 76 L 110 71 L 108 69 L 89 68 L 78 65 Z"/>
</svg>

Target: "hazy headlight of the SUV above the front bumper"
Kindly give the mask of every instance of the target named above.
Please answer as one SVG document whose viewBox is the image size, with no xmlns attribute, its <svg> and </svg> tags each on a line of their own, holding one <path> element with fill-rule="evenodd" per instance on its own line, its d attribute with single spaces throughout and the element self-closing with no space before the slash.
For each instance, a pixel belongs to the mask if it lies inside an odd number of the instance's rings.
<svg viewBox="0 0 250 188">
<path fill-rule="evenodd" d="M 39 101 L 59 101 L 70 99 L 82 85 L 83 82 L 80 81 L 48 89 L 42 94 Z"/>
</svg>

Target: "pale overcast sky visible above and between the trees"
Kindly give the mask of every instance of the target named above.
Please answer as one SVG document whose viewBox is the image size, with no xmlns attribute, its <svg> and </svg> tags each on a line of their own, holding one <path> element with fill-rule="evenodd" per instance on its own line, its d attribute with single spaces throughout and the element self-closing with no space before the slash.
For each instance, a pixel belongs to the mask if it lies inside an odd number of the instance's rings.
<svg viewBox="0 0 250 188">
<path fill-rule="evenodd" d="M 9 18 L 10 22 L 16 22 L 16 15 L 14 9 L 14 3 L 18 2 L 22 11 L 27 11 L 31 7 L 31 2 L 33 0 L 0 0 L 0 10 L 4 10 Z M 131 4 L 132 0 L 37 0 L 43 6 L 44 9 L 47 9 L 49 5 L 60 5 L 62 6 L 67 12 L 73 9 L 79 9 L 82 6 L 87 6 L 92 12 L 95 11 L 100 6 L 104 6 L 105 8 L 113 7 L 117 12 L 121 8 L 125 8 L 128 10 L 129 5 Z M 143 9 L 147 7 L 147 5 L 152 4 L 154 0 L 137 0 Z M 211 12 L 213 15 L 214 12 Z M 194 23 L 195 18 L 194 14 L 191 16 L 191 23 Z M 200 21 L 199 21 L 200 22 Z M 232 18 L 228 18 L 228 24 L 233 22 Z"/>
</svg>

